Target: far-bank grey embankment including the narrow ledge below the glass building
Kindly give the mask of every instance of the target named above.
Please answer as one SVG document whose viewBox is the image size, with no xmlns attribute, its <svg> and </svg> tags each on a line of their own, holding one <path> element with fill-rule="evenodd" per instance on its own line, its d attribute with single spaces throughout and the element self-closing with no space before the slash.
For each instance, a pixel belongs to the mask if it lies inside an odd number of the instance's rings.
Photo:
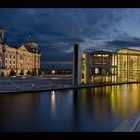
<svg viewBox="0 0 140 140">
<path fill-rule="evenodd" d="M 78 88 L 92 88 L 102 86 L 112 86 L 121 84 L 132 84 L 138 82 L 122 83 L 97 83 L 92 85 L 73 86 L 71 79 L 45 79 L 45 78 L 27 78 L 27 79 L 2 79 L 0 80 L 0 93 L 21 93 L 21 92 L 39 92 L 50 90 L 66 90 Z"/>
</svg>

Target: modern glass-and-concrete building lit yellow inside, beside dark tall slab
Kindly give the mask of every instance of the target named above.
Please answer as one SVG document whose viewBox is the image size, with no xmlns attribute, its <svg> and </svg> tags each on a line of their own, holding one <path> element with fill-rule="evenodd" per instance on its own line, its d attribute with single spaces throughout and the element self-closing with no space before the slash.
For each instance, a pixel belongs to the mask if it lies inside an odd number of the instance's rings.
<svg viewBox="0 0 140 140">
<path fill-rule="evenodd" d="M 84 50 L 77 58 L 77 84 L 140 82 L 140 51 L 122 48 L 117 52 Z M 82 66 L 82 68 L 81 68 Z M 76 72 L 76 71 L 75 71 Z"/>
</svg>

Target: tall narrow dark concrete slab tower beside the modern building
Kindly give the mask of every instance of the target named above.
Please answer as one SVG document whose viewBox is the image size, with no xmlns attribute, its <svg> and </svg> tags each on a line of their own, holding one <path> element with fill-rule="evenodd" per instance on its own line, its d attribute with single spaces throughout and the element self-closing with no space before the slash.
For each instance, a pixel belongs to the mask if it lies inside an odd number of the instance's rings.
<svg viewBox="0 0 140 140">
<path fill-rule="evenodd" d="M 81 51 L 78 44 L 73 47 L 73 85 L 81 83 Z"/>
</svg>

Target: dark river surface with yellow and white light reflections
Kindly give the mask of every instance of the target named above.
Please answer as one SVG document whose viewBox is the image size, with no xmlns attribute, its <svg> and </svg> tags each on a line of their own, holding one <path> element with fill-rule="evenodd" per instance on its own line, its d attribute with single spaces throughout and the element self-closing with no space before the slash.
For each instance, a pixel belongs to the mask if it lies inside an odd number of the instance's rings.
<svg viewBox="0 0 140 140">
<path fill-rule="evenodd" d="M 112 131 L 140 109 L 140 84 L 1 94 L 0 131 Z"/>
</svg>

